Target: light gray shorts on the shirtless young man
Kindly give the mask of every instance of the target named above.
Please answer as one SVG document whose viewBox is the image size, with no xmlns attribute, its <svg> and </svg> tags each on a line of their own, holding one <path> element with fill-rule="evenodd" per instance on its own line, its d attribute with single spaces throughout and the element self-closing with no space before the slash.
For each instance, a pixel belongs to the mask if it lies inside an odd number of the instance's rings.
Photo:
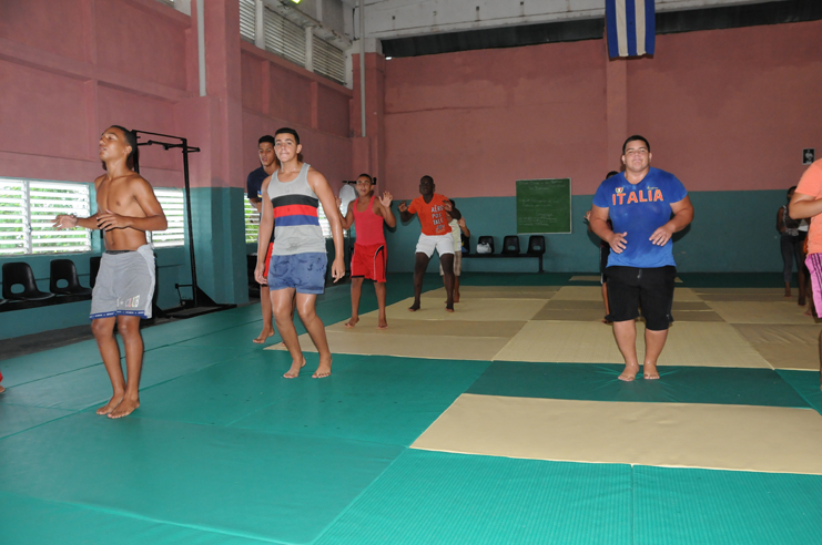
<svg viewBox="0 0 822 545">
<path fill-rule="evenodd" d="M 154 280 L 154 253 L 150 245 L 136 250 L 106 250 L 100 260 L 100 271 L 91 294 L 91 319 L 112 316 L 151 318 Z"/>
</svg>

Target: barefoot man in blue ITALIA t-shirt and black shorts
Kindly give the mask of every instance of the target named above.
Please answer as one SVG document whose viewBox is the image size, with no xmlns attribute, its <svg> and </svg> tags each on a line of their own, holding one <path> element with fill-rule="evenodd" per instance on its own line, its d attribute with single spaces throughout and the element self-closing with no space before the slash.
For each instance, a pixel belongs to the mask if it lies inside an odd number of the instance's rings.
<svg viewBox="0 0 822 545">
<path fill-rule="evenodd" d="M 671 236 L 693 220 L 693 206 L 682 183 L 651 167 L 651 146 L 639 135 L 622 145 L 625 172 L 602 182 L 593 196 L 591 230 L 611 247 L 608 256 L 607 320 L 625 358 L 620 380 L 639 372 L 637 327 L 639 307 L 646 319 L 643 378 L 659 379 L 657 360 L 672 320 L 673 261 Z M 672 215 L 672 217 L 671 217 Z M 608 218 L 613 228 L 608 226 Z"/>
</svg>

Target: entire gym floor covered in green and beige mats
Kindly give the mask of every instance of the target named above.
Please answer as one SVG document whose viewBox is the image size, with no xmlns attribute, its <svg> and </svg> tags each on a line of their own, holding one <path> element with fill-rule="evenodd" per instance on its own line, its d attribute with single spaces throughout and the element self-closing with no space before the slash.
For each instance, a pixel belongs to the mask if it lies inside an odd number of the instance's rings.
<svg viewBox="0 0 822 545">
<path fill-rule="evenodd" d="M 385 331 L 331 288 L 325 380 L 256 305 L 145 329 L 121 421 L 93 340 L 4 360 L 0 543 L 822 544 L 821 326 L 770 278 L 681 275 L 659 381 L 558 274 L 466 276 L 454 315 L 394 275 Z"/>
</svg>

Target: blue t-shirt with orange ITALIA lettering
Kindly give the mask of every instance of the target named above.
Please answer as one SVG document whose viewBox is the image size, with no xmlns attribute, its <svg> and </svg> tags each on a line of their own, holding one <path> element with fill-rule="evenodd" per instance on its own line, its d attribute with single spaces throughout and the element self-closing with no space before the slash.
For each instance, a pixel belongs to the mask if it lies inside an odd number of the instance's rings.
<svg viewBox="0 0 822 545">
<path fill-rule="evenodd" d="M 593 196 L 593 205 L 608 208 L 613 233 L 627 233 L 626 248 L 621 254 L 611 251 L 608 266 L 676 266 L 673 240 L 668 240 L 664 246 L 656 246 L 649 238 L 671 219 L 671 204 L 687 196 L 682 182 L 673 174 L 653 167 L 637 185 L 628 182 L 625 173 L 602 182 Z"/>
</svg>

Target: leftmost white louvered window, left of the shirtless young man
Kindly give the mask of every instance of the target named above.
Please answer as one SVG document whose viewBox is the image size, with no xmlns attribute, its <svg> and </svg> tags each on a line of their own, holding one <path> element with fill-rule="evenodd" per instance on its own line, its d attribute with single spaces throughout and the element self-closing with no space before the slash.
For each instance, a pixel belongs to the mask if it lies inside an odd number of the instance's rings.
<svg viewBox="0 0 822 545">
<path fill-rule="evenodd" d="M 58 214 L 91 215 L 89 185 L 0 178 L 0 255 L 91 251 L 91 232 L 55 229 Z"/>
</svg>

